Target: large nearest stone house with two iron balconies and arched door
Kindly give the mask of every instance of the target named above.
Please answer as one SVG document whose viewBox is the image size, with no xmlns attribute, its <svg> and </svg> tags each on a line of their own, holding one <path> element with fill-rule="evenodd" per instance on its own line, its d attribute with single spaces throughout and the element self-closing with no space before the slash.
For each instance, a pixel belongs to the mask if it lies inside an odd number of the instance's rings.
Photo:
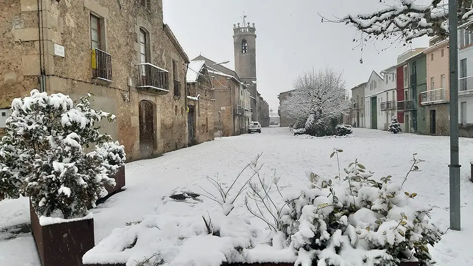
<svg viewBox="0 0 473 266">
<path fill-rule="evenodd" d="M 125 145 L 129 160 L 188 145 L 189 59 L 163 24 L 162 0 L 6 1 L 0 109 L 32 89 L 91 93 L 93 108 L 117 116 L 102 132 Z"/>
</svg>

